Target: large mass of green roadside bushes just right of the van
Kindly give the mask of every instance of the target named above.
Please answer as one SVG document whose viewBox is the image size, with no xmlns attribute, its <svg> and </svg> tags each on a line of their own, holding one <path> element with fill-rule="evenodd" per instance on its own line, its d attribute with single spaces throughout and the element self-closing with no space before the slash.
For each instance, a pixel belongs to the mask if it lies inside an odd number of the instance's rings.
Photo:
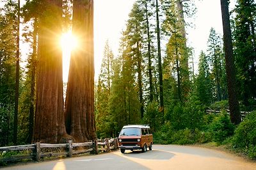
<svg viewBox="0 0 256 170">
<path fill-rule="evenodd" d="M 196 96 L 191 96 L 184 106 L 177 103 L 169 108 L 165 115 L 167 121 L 154 135 L 161 144 L 192 144 L 205 142 L 205 134 L 200 129 L 204 126 L 203 108 Z"/>
</svg>

